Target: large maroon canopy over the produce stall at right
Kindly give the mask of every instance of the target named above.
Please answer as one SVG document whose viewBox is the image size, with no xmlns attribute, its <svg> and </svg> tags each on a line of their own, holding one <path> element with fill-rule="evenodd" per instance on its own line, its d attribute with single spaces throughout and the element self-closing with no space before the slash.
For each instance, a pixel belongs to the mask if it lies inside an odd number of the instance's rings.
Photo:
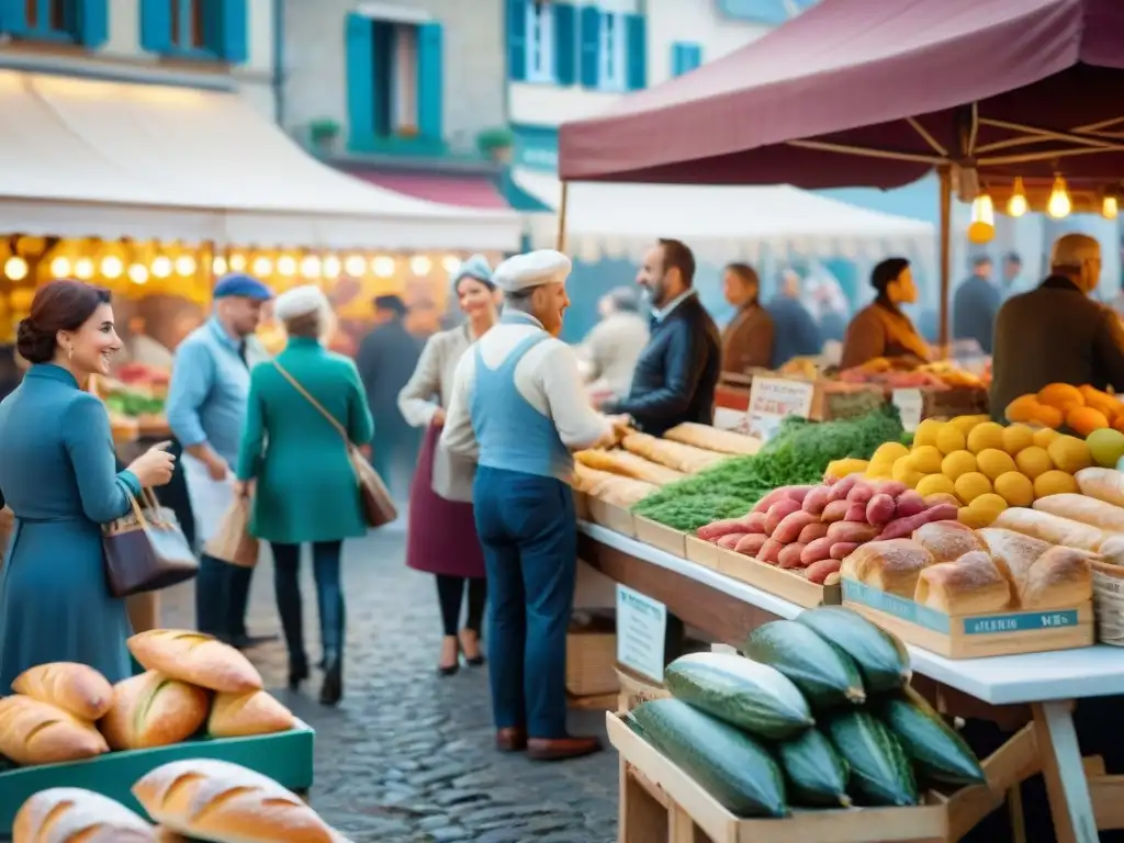
<svg viewBox="0 0 1124 843">
<path fill-rule="evenodd" d="M 1120 181 L 1121 0 L 823 0 L 742 49 L 565 124 L 565 180 L 895 188 Z M 845 153 L 845 154 L 840 154 Z"/>
</svg>

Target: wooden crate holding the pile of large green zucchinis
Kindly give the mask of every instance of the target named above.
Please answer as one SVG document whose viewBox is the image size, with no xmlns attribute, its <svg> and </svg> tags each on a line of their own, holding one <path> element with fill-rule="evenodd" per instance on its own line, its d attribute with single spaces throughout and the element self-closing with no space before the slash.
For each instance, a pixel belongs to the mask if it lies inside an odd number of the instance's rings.
<svg viewBox="0 0 1124 843">
<path fill-rule="evenodd" d="M 988 783 L 946 796 L 926 795 L 913 808 L 801 810 L 786 819 L 740 819 L 690 776 L 624 724 L 607 715 L 609 741 L 620 755 L 619 843 L 953 843 L 999 807 L 1036 755 L 1024 728 L 984 761 Z"/>
</svg>

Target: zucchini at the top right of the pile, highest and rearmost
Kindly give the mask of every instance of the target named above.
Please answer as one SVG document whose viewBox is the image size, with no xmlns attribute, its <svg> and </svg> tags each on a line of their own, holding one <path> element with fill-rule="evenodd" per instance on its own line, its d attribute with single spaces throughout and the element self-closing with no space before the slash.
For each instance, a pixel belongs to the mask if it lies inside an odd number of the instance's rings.
<svg viewBox="0 0 1124 843">
<path fill-rule="evenodd" d="M 859 613 L 842 606 L 821 606 L 801 611 L 796 620 L 854 660 L 868 695 L 896 691 L 909 683 L 905 644 Z"/>
</svg>

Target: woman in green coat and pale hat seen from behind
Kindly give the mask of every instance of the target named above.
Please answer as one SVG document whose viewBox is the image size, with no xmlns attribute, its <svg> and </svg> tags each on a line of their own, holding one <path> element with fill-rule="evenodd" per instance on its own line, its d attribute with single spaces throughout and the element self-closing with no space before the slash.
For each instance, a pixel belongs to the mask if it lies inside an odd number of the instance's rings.
<svg viewBox="0 0 1124 843">
<path fill-rule="evenodd" d="M 294 288 L 278 297 L 274 312 L 289 343 L 277 360 L 251 373 L 239 491 L 254 499 L 251 533 L 273 547 L 293 689 L 308 678 L 298 570 L 300 545 L 312 545 L 324 651 L 320 703 L 332 706 L 343 696 L 343 541 L 366 535 L 347 441 L 366 445 L 374 427 L 355 364 L 324 347 L 334 321 L 324 293 Z"/>
</svg>

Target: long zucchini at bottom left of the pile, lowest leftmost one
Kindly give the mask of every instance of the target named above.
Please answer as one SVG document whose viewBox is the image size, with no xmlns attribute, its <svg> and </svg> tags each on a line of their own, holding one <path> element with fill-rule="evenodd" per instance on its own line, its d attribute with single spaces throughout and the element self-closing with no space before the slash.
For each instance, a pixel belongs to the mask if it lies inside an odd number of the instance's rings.
<svg viewBox="0 0 1124 843">
<path fill-rule="evenodd" d="M 645 741 L 731 813 L 788 815 L 785 776 L 750 735 L 678 699 L 642 703 L 632 716 Z"/>
</svg>

